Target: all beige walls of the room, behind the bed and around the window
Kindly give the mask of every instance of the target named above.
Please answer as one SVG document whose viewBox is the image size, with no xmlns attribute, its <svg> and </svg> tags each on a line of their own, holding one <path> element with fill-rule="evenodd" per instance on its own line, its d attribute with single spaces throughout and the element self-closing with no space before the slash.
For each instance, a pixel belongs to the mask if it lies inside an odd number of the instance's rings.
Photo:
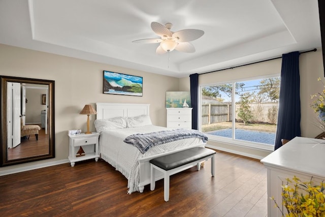
<svg viewBox="0 0 325 217">
<path fill-rule="evenodd" d="M 142 76 L 143 97 L 102 94 L 103 70 Z M 280 71 L 281 59 L 276 59 L 200 75 L 199 84 L 272 75 L 280 73 Z M 79 114 L 85 104 L 94 105 L 96 102 L 148 103 L 153 124 L 166 126 L 166 91 L 189 91 L 190 89 L 189 77 L 178 79 L 2 44 L 0 44 L 0 75 L 55 80 L 56 152 L 55 159 L 3 167 L 0 168 L 0 174 L 23 167 L 35 168 L 38 165 L 67 161 L 69 154 L 67 131 L 71 129 L 86 130 L 86 116 Z M 321 132 L 315 126 L 316 114 L 309 107 L 310 95 L 322 90 L 322 84 L 317 82 L 318 77 L 323 77 L 321 49 L 301 54 L 301 129 L 304 137 L 314 137 Z M 91 115 L 91 130 L 94 130 L 94 119 L 95 115 Z M 208 141 L 208 146 L 256 158 L 269 153 L 215 141 Z"/>
</svg>

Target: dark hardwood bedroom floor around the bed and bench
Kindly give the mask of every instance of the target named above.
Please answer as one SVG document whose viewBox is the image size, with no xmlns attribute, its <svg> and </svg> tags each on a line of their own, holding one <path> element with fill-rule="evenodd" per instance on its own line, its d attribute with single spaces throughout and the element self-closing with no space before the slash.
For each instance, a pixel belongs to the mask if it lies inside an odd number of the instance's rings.
<svg viewBox="0 0 325 217">
<path fill-rule="evenodd" d="M 267 216 L 266 169 L 257 160 L 217 151 L 200 171 L 171 176 L 154 191 L 127 194 L 126 178 L 99 160 L 0 176 L 0 216 Z"/>
</svg>

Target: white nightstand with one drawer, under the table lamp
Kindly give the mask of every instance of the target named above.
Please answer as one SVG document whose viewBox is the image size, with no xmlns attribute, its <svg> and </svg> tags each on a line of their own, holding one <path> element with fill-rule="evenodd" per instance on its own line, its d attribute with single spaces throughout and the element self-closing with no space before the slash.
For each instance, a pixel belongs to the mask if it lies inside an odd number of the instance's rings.
<svg viewBox="0 0 325 217">
<path fill-rule="evenodd" d="M 99 159 L 98 140 L 99 133 L 92 132 L 91 134 L 76 134 L 69 135 L 69 161 L 72 167 L 75 166 L 75 162 L 84 161 L 89 159 L 95 159 L 97 162 Z M 76 157 L 78 150 L 82 147 L 84 155 Z"/>
</svg>

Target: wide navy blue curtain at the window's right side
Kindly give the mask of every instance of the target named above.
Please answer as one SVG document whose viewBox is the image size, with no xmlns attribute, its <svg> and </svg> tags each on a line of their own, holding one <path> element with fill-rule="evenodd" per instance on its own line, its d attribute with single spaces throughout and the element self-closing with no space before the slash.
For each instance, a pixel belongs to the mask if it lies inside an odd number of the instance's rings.
<svg viewBox="0 0 325 217">
<path fill-rule="evenodd" d="M 301 136 L 299 52 L 282 55 L 278 122 L 274 150 L 282 146 L 281 139 Z"/>
</svg>

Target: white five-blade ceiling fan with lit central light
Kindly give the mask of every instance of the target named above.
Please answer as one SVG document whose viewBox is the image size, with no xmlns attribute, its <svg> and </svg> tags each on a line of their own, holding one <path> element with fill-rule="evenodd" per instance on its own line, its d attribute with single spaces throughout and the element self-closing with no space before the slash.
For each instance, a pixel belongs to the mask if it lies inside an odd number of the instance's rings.
<svg viewBox="0 0 325 217">
<path fill-rule="evenodd" d="M 172 23 L 162 25 L 158 22 L 151 22 L 153 32 L 160 36 L 160 39 L 140 39 L 133 42 L 141 44 L 160 43 L 156 49 L 157 54 L 164 54 L 174 49 L 185 53 L 194 53 L 195 48 L 190 41 L 203 36 L 204 31 L 200 29 L 182 29 L 174 33 L 171 31 L 172 26 Z"/>
</svg>

